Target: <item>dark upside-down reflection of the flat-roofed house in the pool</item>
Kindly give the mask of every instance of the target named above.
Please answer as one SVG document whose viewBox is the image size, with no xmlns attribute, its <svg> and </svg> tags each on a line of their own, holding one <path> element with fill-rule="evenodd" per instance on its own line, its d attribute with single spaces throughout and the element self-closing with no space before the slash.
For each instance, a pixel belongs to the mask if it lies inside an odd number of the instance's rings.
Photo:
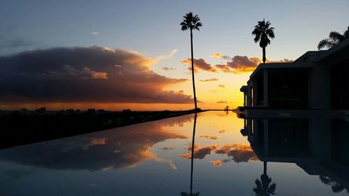
<svg viewBox="0 0 349 196">
<path fill-rule="evenodd" d="M 349 120 L 246 119 L 248 141 L 258 158 L 295 163 L 349 190 Z"/>
</svg>

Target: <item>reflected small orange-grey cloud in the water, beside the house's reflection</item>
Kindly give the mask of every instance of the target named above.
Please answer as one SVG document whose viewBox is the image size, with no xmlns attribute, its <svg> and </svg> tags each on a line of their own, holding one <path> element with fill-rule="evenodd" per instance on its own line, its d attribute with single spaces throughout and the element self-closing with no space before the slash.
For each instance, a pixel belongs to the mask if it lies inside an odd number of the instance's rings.
<svg viewBox="0 0 349 196">
<path fill-rule="evenodd" d="M 221 149 L 217 149 L 215 153 L 232 156 L 232 160 L 236 163 L 258 160 L 248 144 L 224 144 Z"/>
</svg>

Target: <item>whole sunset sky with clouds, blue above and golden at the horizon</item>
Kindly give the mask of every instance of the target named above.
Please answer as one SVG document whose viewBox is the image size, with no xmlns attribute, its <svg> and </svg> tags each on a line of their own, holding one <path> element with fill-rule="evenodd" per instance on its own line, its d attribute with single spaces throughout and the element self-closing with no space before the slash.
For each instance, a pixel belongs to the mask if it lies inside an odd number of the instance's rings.
<svg viewBox="0 0 349 196">
<path fill-rule="evenodd" d="M 261 3 L 262 2 L 262 3 Z M 335 3 L 334 3 L 335 2 Z M 271 22 L 267 61 L 317 50 L 348 28 L 349 1 L 4 1 L 0 7 L 0 110 L 235 108 L 239 88 L 261 62 L 251 32 Z"/>
</svg>

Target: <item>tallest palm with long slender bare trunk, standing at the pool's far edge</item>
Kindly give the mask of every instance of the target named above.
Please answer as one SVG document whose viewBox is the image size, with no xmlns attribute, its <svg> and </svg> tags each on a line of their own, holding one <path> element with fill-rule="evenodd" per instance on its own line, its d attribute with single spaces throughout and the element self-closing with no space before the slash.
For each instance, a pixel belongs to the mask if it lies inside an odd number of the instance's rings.
<svg viewBox="0 0 349 196">
<path fill-rule="evenodd" d="M 194 91 L 194 103 L 195 110 L 198 110 L 198 106 L 196 104 L 196 93 L 195 93 L 195 80 L 194 80 L 194 54 L 193 54 L 193 30 L 200 31 L 200 27 L 202 27 L 202 23 L 200 22 L 200 18 L 198 15 L 193 16 L 193 13 L 187 13 L 183 16 L 184 20 L 181 22 L 181 30 L 186 31 L 188 29 L 191 30 L 191 75 L 193 77 L 193 91 Z"/>
</svg>

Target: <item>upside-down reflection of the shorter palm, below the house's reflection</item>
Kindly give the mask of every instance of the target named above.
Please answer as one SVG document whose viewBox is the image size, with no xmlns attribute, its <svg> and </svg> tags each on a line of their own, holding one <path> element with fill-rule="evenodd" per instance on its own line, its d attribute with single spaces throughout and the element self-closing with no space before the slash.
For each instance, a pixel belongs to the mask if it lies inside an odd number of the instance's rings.
<svg viewBox="0 0 349 196">
<path fill-rule="evenodd" d="M 264 162 L 264 172 L 260 176 L 260 179 L 255 179 L 256 187 L 253 188 L 256 196 L 269 196 L 275 195 L 276 183 L 272 183 L 272 178 L 267 175 L 267 162 Z"/>
</svg>

